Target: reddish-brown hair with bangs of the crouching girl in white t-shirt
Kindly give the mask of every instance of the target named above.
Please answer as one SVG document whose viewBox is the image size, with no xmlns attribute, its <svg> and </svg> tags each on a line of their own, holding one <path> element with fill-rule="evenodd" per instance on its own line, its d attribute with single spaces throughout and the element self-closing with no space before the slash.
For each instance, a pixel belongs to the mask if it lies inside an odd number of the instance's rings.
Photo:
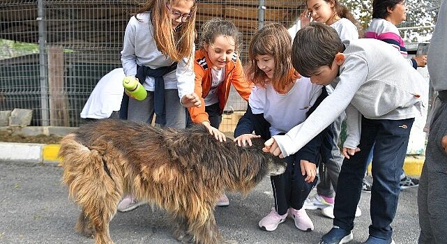
<svg viewBox="0 0 447 244">
<path fill-rule="evenodd" d="M 275 60 L 272 79 L 268 79 L 266 73 L 257 66 L 256 56 L 266 54 L 273 56 Z M 291 65 L 290 54 L 291 37 L 285 26 L 278 23 L 266 24 L 255 33 L 248 47 L 248 80 L 262 87 L 271 82 L 275 91 L 284 93 L 287 85 L 299 77 Z"/>
</svg>

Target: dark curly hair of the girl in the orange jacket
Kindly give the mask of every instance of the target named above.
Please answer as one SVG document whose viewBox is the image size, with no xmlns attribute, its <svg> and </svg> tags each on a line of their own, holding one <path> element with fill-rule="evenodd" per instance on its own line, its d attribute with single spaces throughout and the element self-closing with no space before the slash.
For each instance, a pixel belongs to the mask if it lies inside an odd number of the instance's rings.
<svg viewBox="0 0 447 244">
<path fill-rule="evenodd" d="M 218 36 L 231 36 L 234 39 L 234 51 L 238 51 L 242 42 L 242 35 L 238 28 L 229 20 L 220 20 L 218 18 L 209 20 L 202 24 L 200 34 L 200 47 L 205 44 L 211 45 Z"/>
</svg>

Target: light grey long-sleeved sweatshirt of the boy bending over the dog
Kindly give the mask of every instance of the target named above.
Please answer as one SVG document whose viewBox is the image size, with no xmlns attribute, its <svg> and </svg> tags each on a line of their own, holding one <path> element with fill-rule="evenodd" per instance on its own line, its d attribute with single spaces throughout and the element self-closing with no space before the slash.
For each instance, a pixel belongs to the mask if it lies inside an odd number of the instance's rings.
<svg viewBox="0 0 447 244">
<path fill-rule="evenodd" d="M 344 63 L 335 90 L 308 119 L 286 135 L 274 136 L 282 155 L 296 153 L 346 109 L 348 137 L 344 147 L 360 143 L 361 116 L 409 119 L 421 115 L 427 97 L 425 79 L 397 49 L 375 39 L 345 40 Z"/>
</svg>

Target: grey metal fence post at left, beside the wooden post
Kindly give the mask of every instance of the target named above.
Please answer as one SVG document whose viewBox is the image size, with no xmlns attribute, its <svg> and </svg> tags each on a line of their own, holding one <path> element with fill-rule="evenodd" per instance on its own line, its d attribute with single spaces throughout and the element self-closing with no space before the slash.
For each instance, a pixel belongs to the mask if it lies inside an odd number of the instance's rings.
<svg viewBox="0 0 447 244">
<path fill-rule="evenodd" d="M 37 1 L 37 15 L 39 30 L 40 116 L 42 116 L 42 125 L 47 126 L 50 124 L 50 114 L 48 109 L 48 75 L 47 57 L 45 52 L 47 35 L 45 32 L 45 10 L 43 8 L 43 0 Z"/>
</svg>

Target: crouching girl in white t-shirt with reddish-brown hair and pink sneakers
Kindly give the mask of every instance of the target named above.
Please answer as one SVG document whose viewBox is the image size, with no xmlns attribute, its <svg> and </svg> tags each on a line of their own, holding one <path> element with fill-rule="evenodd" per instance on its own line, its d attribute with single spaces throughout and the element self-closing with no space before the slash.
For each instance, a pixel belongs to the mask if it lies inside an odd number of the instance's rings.
<svg viewBox="0 0 447 244">
<path fill-rule="evenodd" d="M 253 36 L 248 50 L 248 80 L 255 84 L 247 112 L 234 132 L 239 146 L 251 146 L 251 139 L 285 133 L 302 123 L 317 98 L 327 95 L 323 86 L 300 77 L 291 65 L 291 37 L 281 24 L 267 24 Z M 253 135 L 255 130 L 257 135 Z M 322 135 L 322 134 L 321 134 Z M 285 158 L 285 174 L 271 176 L 275 206 L 259 221 L 259 227 L 273 231 L 291 215 L 302 231 L 314 229 L 303 207 L 317 183 L 317 158 L 321 137 L 315 137 L 301 151 Z"/>
</svg>

